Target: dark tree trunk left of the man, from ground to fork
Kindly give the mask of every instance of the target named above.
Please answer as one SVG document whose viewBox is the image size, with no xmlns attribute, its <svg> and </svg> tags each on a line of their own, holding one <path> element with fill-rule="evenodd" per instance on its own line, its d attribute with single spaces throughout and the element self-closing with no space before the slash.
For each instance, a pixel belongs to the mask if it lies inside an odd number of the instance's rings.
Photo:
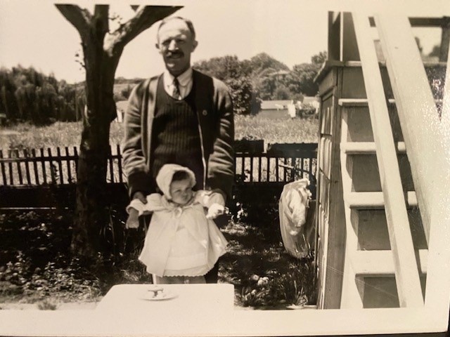
<svg viewBox="0 0 450 337">
<path fill-rule="evenodd" d="M 110 154 L 110 122 L 116 117 L 113 99 L 114 76 L 120 55 L 103 50 L 99 19 L 90 41 L 84 41 L 86 107 L 77 170 L 77 213 L 72 233 L 72 253 L 92 258 L 105 253 L 101 234 L 109 223 L 106 172 Z M 121 51 L 120 51 L 121 53 Z M 117 53 L 117 54 L 120 54 Z M 101 254 L 101 255 L 102 255 Z"/>
</svg>

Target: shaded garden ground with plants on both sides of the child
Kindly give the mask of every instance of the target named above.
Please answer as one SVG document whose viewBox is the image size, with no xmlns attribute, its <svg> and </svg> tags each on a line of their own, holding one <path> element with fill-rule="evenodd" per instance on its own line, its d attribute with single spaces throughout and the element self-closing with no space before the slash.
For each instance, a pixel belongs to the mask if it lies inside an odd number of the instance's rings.
<svg viewBox="0 0 450 337">
<path fill-rule="evenodd" d="M 122 226 L 123 216 L 114 213 L 114 225 Z M 143 232 L 126 232 L 119 256 L 86 267 L 70 256 L 72 219 L 70 211 L 0 215 L 1 309 L 95 308 L 114 284 L 150 283 L 136 258 Z M 296 260 L 285 253 L 278 223 L 256 227 L 230 220 L 222 231 L 229 253 L 221 258 L 219 282 L 234 284 L 236 306 L 285 309 L 315 303 L 313 258 Z"/>
</svg>

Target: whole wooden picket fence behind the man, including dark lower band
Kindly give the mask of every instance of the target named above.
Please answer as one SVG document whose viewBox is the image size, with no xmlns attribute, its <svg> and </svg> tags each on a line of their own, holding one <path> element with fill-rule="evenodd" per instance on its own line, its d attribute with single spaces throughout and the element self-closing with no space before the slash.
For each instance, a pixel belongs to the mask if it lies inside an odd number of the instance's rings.
<svg viewBox="0 0 450 337">
<path fill-rule="evenodd" d="M 267 189 L 279 194 L 285 183 L 309 178 L 314 198 L 317 144 L 285 145 L 288 150 L 272 145 L 264 151 L 264 143 L 237 143 L 235 188 L 251 198 Z M 78 152 L 77 147 L 0 150 L 0 209 L 53 208 L 61 199 L 70 200 L 63 205 L 68 207 L 75 195 Z M 119 145 L 110 147 L 107 170 L 108 188 L 120 191 L 110 196 L 126 199 Z"/>
</svg>

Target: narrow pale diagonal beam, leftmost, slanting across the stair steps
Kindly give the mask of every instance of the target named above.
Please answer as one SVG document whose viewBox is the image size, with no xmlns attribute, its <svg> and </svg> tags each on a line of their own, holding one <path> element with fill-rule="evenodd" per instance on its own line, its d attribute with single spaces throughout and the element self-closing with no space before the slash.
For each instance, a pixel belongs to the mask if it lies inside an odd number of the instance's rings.
<svg viewBox="0 0 450 337">
<path fill-rule="evenodd" d="M 423 305 L 413 239 L 409 229 L 399 162 L 394 145 L 387 100 L 378 58 L 366 15 L 353 14 L 356 41 L 359 46 L 364 85 L 375 140 L 380 182 L 385 199 L 387 230 L 395 265 L 395 279 L 401 307 Z M 406 147 L 408 149 L 408 147 Z"/>
</svg>

